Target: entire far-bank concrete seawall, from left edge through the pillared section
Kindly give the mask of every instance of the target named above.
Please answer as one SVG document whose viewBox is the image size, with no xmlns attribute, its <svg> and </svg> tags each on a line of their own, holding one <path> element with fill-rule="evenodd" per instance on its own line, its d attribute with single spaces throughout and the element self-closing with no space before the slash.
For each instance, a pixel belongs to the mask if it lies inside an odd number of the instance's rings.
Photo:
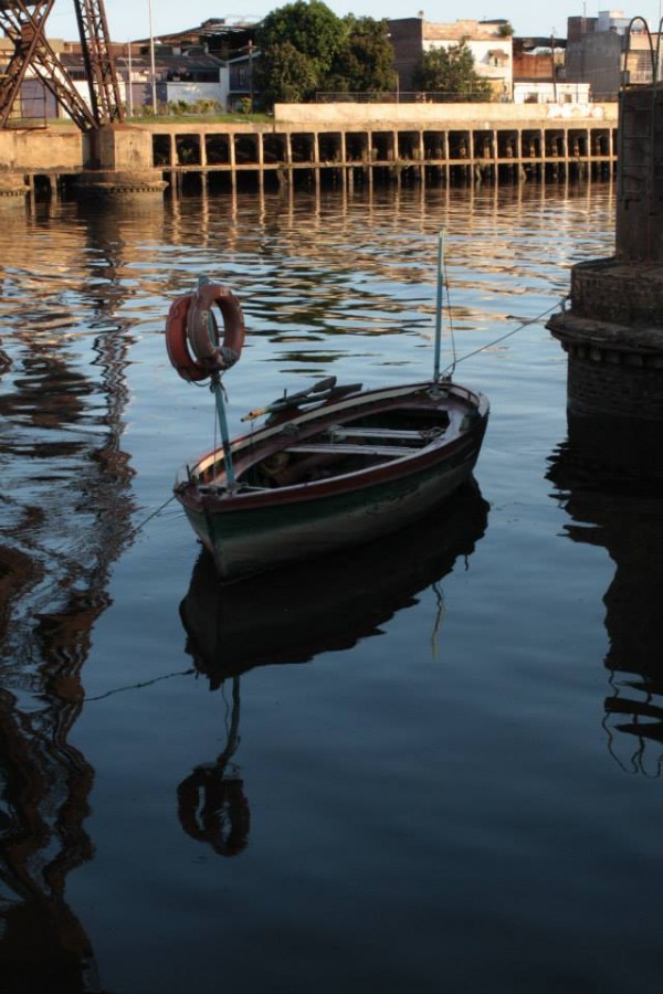
<svg viewBox="0 0 663 994">
<path fill-rule="evenodd" d="M 173 190 L 305 182 L 453 182 L 608 175 L 617 106 L 513 104 L 277 105 L 274 121 L 0 131 L 0 177 L 27 187 L 102 169 L 158 170 Z"/>
</svg>

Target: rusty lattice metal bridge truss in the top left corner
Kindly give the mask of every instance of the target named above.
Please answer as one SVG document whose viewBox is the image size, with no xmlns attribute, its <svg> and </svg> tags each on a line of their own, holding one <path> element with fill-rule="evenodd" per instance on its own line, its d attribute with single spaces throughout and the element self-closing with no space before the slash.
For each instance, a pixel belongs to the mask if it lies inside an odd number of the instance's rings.
<svg viewBox="0 0 663 994">
<path fill-rule="evenodd" d="M 46 19 L 53 3 L 54 0 L 0 0 L 0 28 L 14 49 L 0 73 L 0 128 L 9 126 L 27 77 L 41 81 L 83 131 L 120 121 L 119 85 L 103 0 L 74 0 L 90 103 L 81 96 L 46 39 Z"/>
</svg>

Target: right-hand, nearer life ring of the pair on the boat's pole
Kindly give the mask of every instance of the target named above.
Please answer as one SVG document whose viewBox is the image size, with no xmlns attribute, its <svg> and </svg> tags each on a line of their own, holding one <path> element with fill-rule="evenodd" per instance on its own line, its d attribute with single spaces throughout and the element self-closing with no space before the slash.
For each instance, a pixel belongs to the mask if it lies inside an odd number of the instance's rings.
<svg viewBox="0 0 663 994">
<path fill-rule="evenodd" d="M 223 319 L 221 345 L 214 304 Z M 232 290 L 218 283 L 201 284 L 192 294 L 187 315 L 187 341 L 196 359 L 208 368 L 230 369 L 242 355 L 245 334 L 244 315 Z"/>
</svg>

